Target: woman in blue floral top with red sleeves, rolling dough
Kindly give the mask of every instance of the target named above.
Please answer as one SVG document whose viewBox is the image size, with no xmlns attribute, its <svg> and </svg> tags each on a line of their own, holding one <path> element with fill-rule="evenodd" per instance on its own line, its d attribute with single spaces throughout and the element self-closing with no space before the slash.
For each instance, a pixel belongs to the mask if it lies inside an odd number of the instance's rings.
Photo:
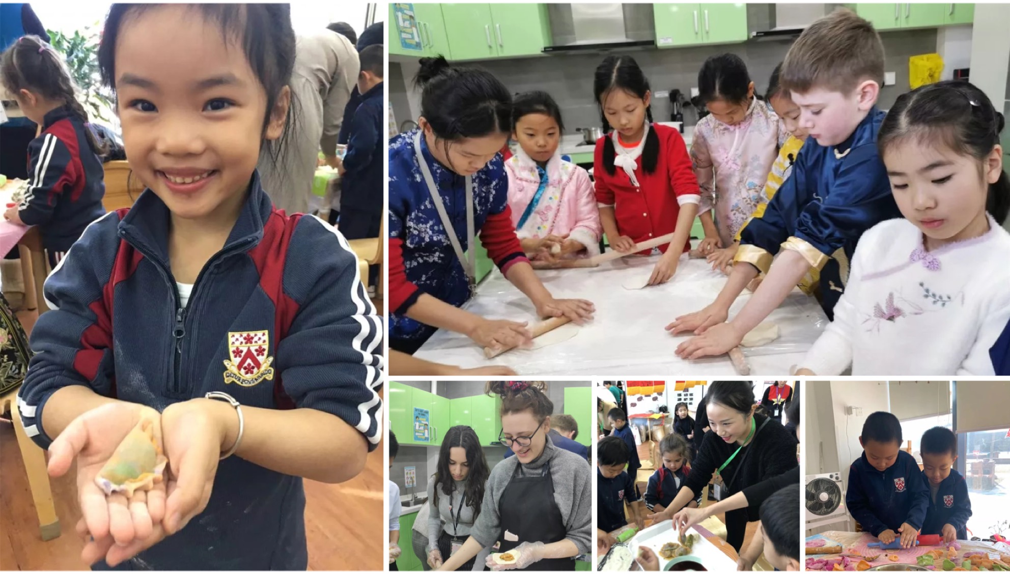
<svg viewBox="0 0 1010 574">
<path fill-rule="evenodd" d="M 475 234 L 537 316 L 590 319 L 590 302 L 550 295 L 516 237 L 499 153 L 512 131 L 509 91 L 443 58 L 422 58 L 415 83 L 420 127 L 389 142 L 390 347 L 413 354 L 437 329 L 492 349 L 529 342 L 524 323 L 462 309 L 477 289 Z"/>
</svg>

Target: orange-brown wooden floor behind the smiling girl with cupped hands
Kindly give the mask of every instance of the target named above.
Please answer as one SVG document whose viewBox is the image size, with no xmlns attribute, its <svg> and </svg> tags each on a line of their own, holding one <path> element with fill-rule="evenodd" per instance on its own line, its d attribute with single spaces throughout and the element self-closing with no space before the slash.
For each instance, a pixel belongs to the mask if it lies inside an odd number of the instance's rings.
<svg viewBox="0 0 1010 574">
<path fill-rule="evenodd" d="M 381 306 L 382 301 L 376 303 Z M 17 315 L 30 332 L 37 314 Z M 309 570 L 383 569 L 386 488 L 382 452 L 380 445 L 369 455 L 365 470 L 342 484 L 305 481 Z M 42 542 L 13 426 L 0 420 L 0 570 L 88 570 L 81 561 L 84 543 L 74 532 L 81 516 L 75 475 L 71 469 L 50 480 L 63 535 Z"/>
</svg>

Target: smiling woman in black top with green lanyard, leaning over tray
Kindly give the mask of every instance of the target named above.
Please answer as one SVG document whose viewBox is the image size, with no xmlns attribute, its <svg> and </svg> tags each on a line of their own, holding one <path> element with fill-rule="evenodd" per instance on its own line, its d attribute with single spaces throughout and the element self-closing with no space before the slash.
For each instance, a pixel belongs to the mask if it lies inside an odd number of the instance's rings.
<svg viewBox="0 0 1010 574">
<path fill-rule="evenodd" d="M 681 491 L 667 509 L 653 516 L 654 522 L 673 519 L 701 493 L 713 472 L 718 472 L 715 497 L 722 500 L 798 466 L 796 438 L 778 422 L 753 414 L 750 382 L 715 381 L 705 398 L 711 430 L 705 433 Z M 747 523 L 758 520 L 756 507 L 726 511 L 726 542 L 736 552 L 743 546 Z"/>
</svg>

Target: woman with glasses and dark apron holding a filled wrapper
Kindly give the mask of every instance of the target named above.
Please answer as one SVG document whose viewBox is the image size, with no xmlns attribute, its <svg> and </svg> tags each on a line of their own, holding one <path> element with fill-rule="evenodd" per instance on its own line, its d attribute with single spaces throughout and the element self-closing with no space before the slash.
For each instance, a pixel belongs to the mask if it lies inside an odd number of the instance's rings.
<svg viewBox="0 0 1010 574">
<path fill-rule="evenodd" d="M 575 570 L 575 557 L 592 543 L 589 464 L 554 446 L 548 433 L 553 404 L 542 382 L 489 382 L 502 399 L 500 440 L 515 456 L 491 470 L 470 538 L 439 570 L 458 570 L 482 549 L 498 546 L 513 560 L 486 563 L 495 570 Z"/>
</svg>

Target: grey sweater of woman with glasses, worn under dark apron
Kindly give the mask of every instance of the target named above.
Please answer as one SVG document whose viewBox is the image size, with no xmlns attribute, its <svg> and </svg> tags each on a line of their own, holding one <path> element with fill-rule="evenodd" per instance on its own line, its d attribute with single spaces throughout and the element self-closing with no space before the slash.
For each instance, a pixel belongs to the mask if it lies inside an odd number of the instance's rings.
<svg viewBox="0 0 1010 574">
<path fill-rule="evenodd" d="M 488 547 L 501 536 L 498 503 L 512 480 L 516 465 L 520 466 L 520 475 L 539 475 L 548 462 L 550 478 L 554 483 L 554 501 L 568 531 L 566 538 L 575 544 L 579 554 L 590 552 L 593 540 L 593 484 L 589 463 L 577 454 L 556 447 L 549 437 L 543 453 L 529 464 L 520 464 L 516 457 L 510 456 L 491 470 L 484 490 L 481 515 L 470 531 L 477 542 Z"/>
</svg>

